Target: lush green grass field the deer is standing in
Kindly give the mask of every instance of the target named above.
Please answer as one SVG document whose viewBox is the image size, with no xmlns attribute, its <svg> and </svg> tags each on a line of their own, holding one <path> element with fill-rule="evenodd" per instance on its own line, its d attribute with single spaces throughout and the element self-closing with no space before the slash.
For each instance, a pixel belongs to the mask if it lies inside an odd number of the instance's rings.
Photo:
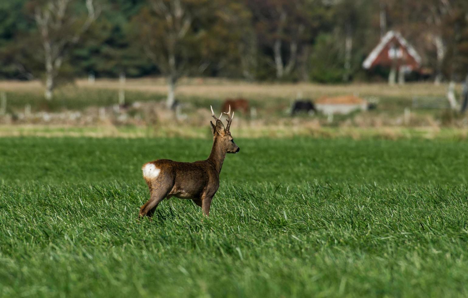
<svg viewBox="0 0 468 298">
<path fill-rule="evenodd" d="M 5 297 L 467 297 L 466 141 L 236 139 L 205 218 L 143 163 L 203 139 L 1 138 Z"/>
</svg>

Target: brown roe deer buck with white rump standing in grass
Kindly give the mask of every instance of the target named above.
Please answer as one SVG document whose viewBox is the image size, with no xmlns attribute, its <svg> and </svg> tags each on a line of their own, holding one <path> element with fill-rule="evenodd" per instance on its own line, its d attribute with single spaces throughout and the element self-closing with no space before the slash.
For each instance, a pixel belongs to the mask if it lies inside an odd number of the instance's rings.
<svg viewBox="0 0 468 298">
<path fill-rule="evenodd" d="M 203 209 L 206 216 L 209 215 L 211 201 L 219 187 L 219 173 L 226 153 L 237 153 L 240 150 L 229 131 L 234 118 L 234 112 L 231 116 L 231 107 L 229 112 L 221 113 L 221 116 L 227 115 L 226 128 L 221 120 L 216 118 L 212 107 L 211 112 L 216 124 L 213 125 L 210 121 L 213 147 L 208 159 L 193 163 L 158 159 L 143 165 L 143 178 L 151 196 L 145 205 L 141 206 L 139 217 L 152 216 L 159 202 L 173 196 L 193 200 Z"/>
</svg>

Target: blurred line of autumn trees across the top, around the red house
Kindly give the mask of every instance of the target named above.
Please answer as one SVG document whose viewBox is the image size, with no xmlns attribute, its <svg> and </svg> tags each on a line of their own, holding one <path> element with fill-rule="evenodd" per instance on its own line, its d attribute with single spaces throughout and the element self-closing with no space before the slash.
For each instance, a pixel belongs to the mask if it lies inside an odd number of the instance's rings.
<svg viewBox="0 0 468 298">
<path fill-rule="evenodd" d="M 388 30 L 435 83 L 468 74 L 466 0 L 9 0 L 0 77 L 41 79 L 46 98 L 77 76 L 186 75 L 322 83 L 379 80 L 361 67 Z"/>
</svg>

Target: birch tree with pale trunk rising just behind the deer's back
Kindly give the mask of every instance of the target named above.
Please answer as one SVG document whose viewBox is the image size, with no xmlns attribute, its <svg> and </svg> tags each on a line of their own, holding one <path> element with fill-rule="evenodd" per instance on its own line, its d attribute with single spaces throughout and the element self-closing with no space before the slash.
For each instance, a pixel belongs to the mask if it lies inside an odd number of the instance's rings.
<svg viewBox="0 0 468 298">
<path fill-rule="evenodd" d="M 135 17 L 139 43 L 167 79 L 167 108 L 175 102 L 181 77 L 203 73 L 229 54 L 227 48 L 237 48 L 235 18 L 230 17 L 236 5 L 229 0 L 149 0 Z"/>
</svg>

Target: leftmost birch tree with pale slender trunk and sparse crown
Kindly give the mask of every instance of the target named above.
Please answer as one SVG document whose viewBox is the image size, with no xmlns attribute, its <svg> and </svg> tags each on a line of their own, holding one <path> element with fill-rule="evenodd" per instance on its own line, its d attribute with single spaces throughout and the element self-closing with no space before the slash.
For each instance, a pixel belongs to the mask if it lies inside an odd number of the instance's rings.
<svg viewBox="0 0 468 298">
<path fill-rule="evenodd" d="M 93 0 L 86 0 L 86 15 L 76 13 L 76 0 L 37 0 L 29 3 L 39 30 L 45 69 L 47 100 L 52 98 L 60 67 L 67 54 L 79 41 L 82 34 L 100 14 Z"/>
</svg>

